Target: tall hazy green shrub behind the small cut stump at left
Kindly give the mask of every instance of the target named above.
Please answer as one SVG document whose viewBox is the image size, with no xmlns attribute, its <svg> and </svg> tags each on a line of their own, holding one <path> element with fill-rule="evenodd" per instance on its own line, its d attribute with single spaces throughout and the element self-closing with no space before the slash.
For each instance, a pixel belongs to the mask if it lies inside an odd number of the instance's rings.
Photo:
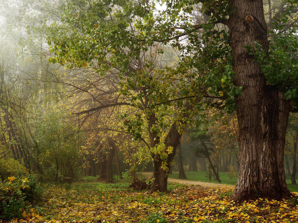
<svg viewBox="0 0 298 223">
<path fill-rule="evenodd" d="M 50 181 L 75 178 L 78 173 L 77 134 L 61 111 L 50 110 L 36 124 L 36 151 L 43 174 Z"/>
</svg>

